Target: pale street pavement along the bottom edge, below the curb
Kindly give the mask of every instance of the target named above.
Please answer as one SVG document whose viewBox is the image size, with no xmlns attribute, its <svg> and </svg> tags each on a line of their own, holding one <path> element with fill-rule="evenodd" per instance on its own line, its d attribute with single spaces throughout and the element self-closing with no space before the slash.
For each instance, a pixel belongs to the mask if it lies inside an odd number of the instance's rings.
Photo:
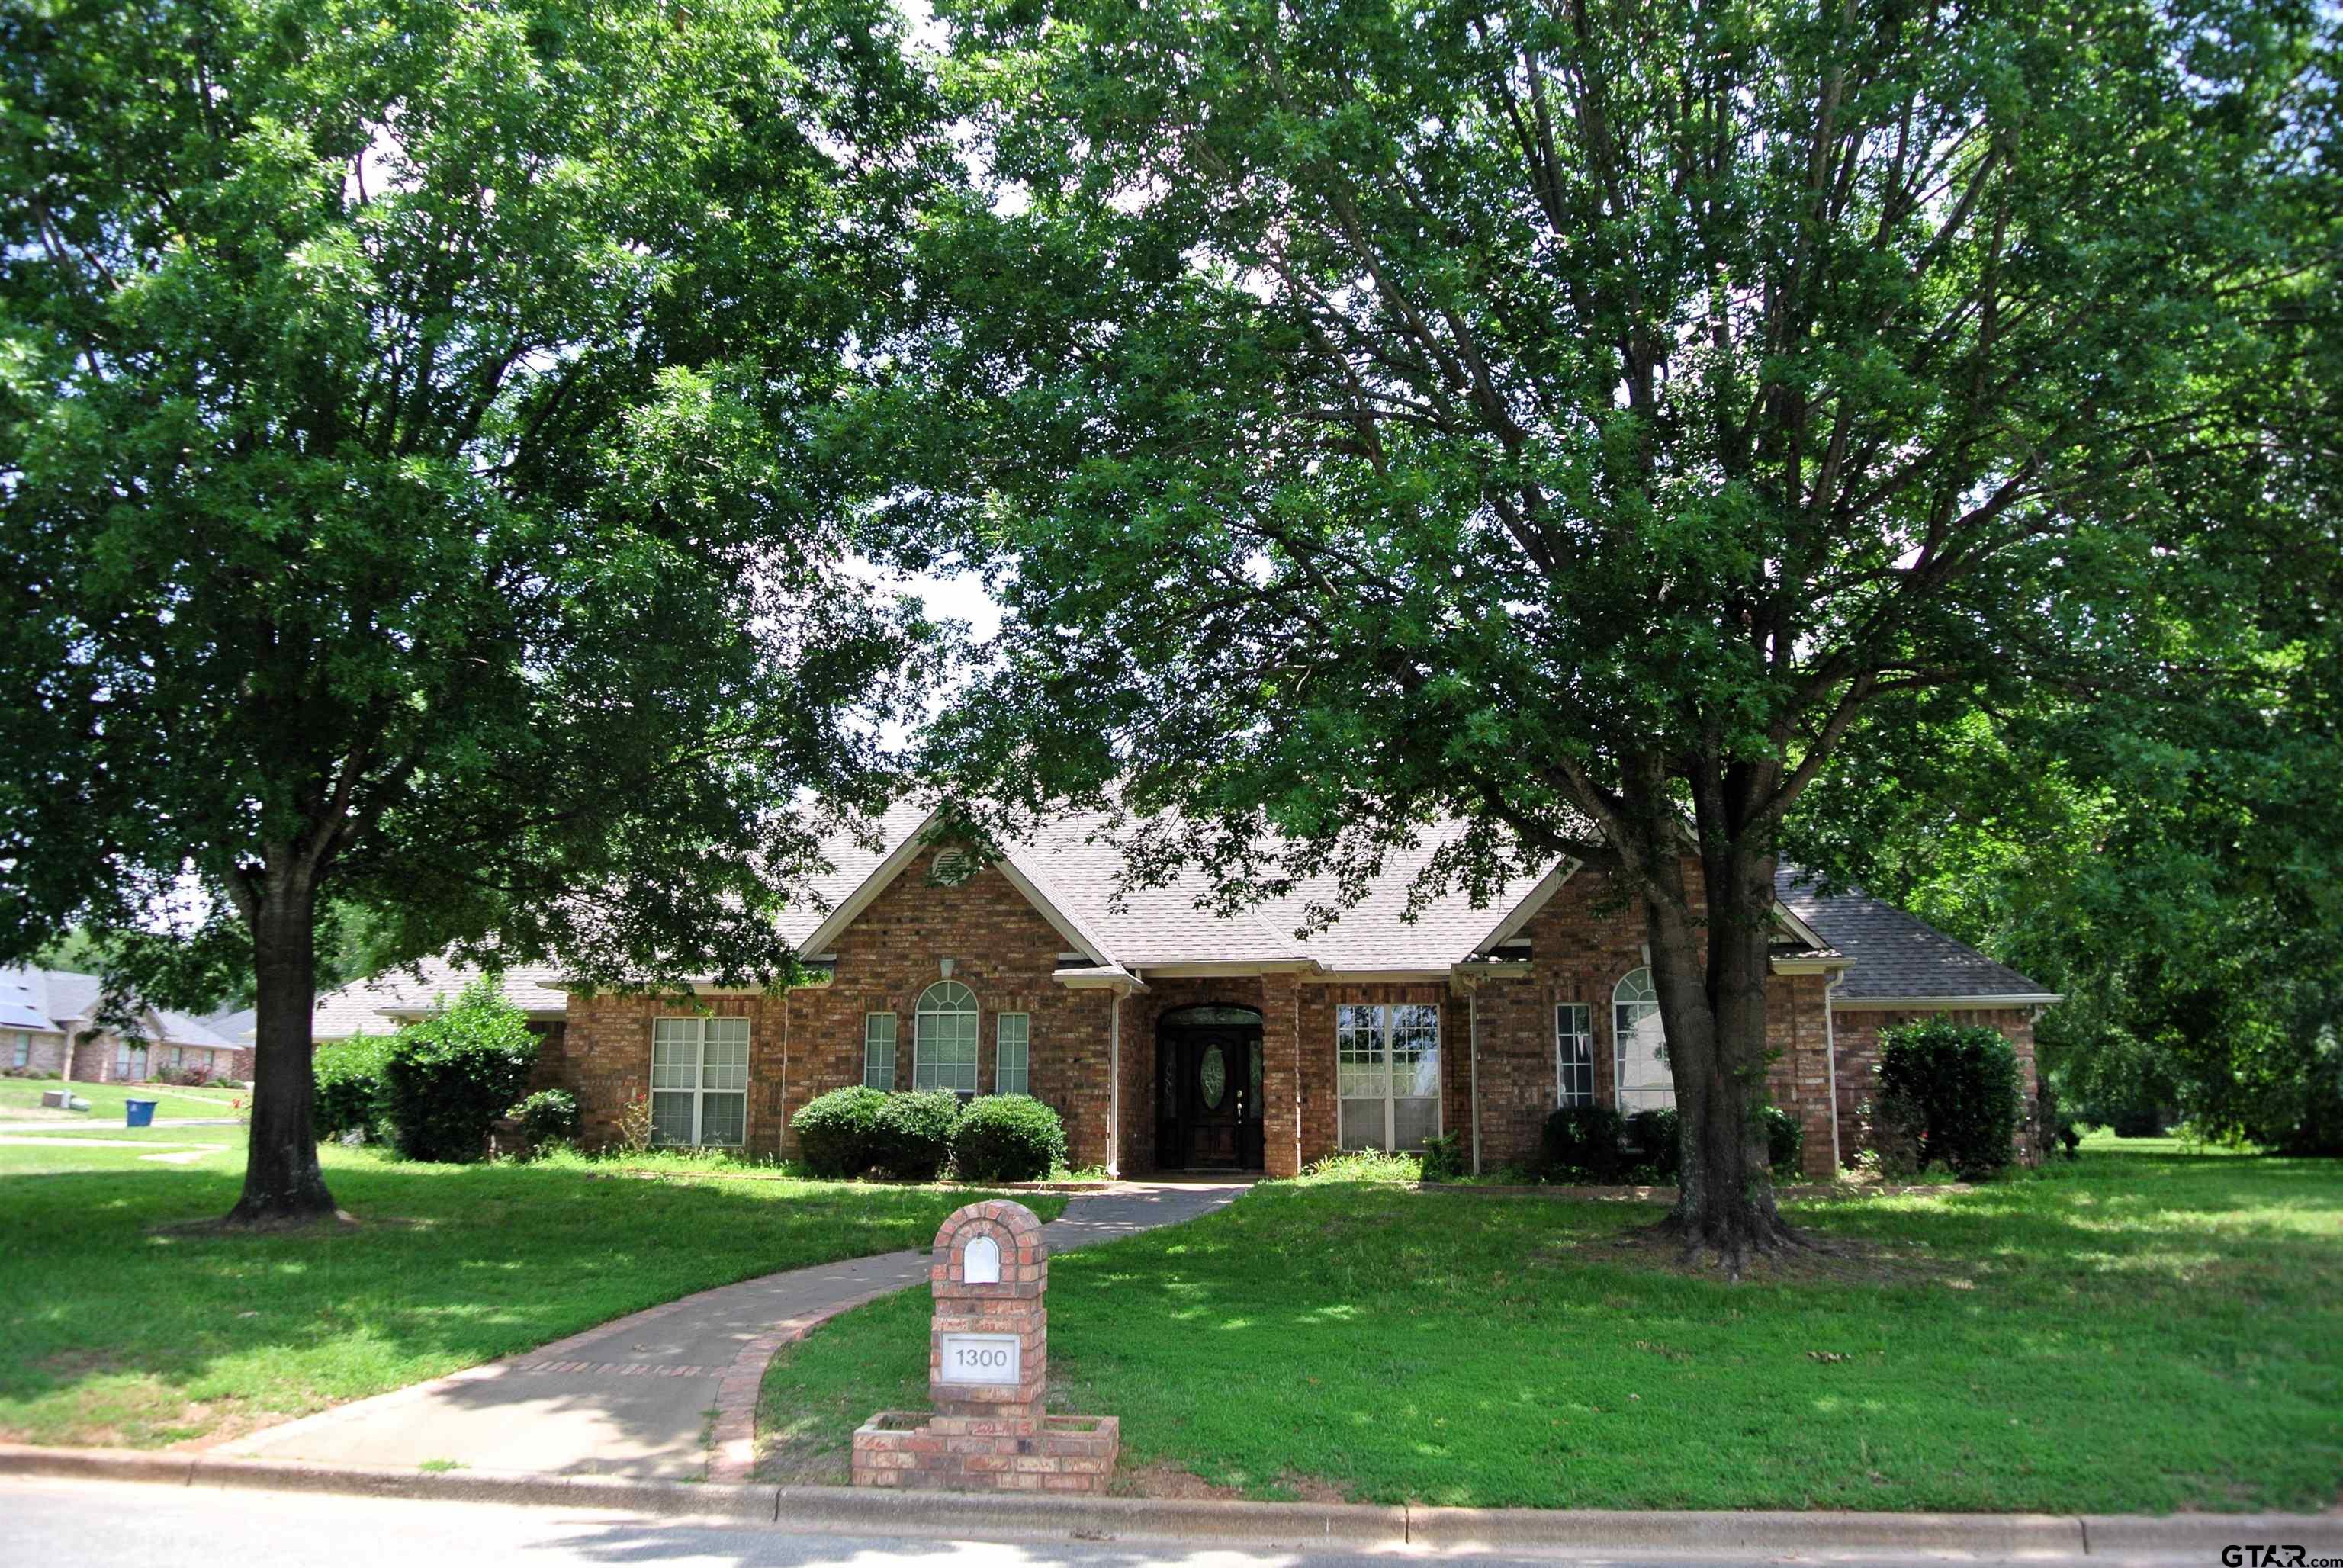
<svg viewBox="0 0 2343 1568">
<path fill-rule="evenodd" d="M 1432 1556 L 1387 1552 L 1254 1552 L 1118 1540 L 944 1540 L 815 1535 L 769 1523 L 658 1519 L 567 1507 L 401 1502 L 330 1493 L 227 1491 L 0 1477 L 0 1563 L 40 1568 L 1352 1568 Z M 2216 1549 L 2151 1554 L 1811 1552 L 1767 1556 L 1551 1552 L 1474 1554 L 1474 1563 L 2125 1563 L 2212 1568 Z M 2245 1559 L 2240 1559 L 2245 1561 Z"/>
</svg>

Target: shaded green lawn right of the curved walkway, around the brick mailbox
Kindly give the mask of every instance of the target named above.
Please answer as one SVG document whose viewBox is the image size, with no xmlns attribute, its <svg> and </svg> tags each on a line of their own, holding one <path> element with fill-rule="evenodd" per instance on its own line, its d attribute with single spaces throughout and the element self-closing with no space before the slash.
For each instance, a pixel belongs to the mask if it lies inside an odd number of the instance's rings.
<svg viewBox="0 0 2343 1568">
<path fill-rule="evenodd" d="M 1530 1507 L 2317 1509 L 2343 1484 L 2343 1167 L 2092 1146 L 1809 1202 L 1844 1277 L 1689 1277 L 1657 1209 L 1270 1184 L 1050 1270 L 1052 1409 L 1125 1491 Z M 928 1294 L 776 1359 L 769 1474 L 925 1409 Z"/>
</svg>

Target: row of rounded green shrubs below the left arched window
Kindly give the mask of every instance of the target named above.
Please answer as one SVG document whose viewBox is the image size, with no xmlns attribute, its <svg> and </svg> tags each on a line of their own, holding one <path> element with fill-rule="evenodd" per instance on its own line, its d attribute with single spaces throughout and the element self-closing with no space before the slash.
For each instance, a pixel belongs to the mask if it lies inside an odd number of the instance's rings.
<svg viewBox="0 0 2343 1568">
<path fill-rule="evenodd" d="M 815 1177 L 879 1170 L 904 1181 L 1040 1181 L 1066 1163 L 1066 1125 L 1029 1095 L 986 1095 L 961 1106 L 947 1090 L 888 1095 L 829 1090 L 790 1118 Z"/>
</svg>

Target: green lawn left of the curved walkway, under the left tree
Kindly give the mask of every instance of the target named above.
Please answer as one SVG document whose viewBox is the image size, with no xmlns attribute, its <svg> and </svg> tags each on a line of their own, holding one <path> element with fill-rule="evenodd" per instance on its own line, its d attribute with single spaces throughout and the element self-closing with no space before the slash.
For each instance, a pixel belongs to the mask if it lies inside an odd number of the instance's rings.
<svg viewBox="0 0 2343 1568">
<path fill-rule="evenodd" d="M 9 1125 L 0 1137 L 40 1137 Z M 239 1127 L 0 1144 L 0 1441 L 225 1434 L 377 1395 L 778 1268 L 923 1247 L 979 1193 L 633 1181 L 581 1167 L 405 1165 L 326 1148 L 363 1223 L 223 1238 Z M 197 1146 L 190 1165 L 143 1160 Z M 1064 1200 L 1029 1193 L 1057 1214 Z"/>
</svg>

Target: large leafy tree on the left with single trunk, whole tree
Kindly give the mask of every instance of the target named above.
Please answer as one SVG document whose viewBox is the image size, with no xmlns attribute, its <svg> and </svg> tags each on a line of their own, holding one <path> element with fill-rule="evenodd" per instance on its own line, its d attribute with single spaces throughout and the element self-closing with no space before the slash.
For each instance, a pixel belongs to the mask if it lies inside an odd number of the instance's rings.
<svg viewBox="0 0 2343 1568">
<path fill-rule="evenodd" d="M 928 101 L 883 0 L 0 14 L 0 947 L 251 963 L 232 1219 L 319 1216 L 319 912 L 785 973 L 925 628 L 825 438 Z"/>
</svg>

